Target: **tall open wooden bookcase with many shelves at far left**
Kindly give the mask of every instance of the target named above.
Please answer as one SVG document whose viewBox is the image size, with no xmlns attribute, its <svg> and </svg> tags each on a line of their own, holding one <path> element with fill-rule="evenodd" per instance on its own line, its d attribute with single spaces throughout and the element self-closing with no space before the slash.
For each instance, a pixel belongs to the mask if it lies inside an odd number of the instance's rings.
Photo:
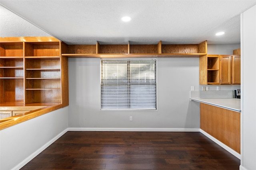
<svg viewBox="0 0 256 170">
<path fill-rule="evenodd" d="M 68 106 L 66 44 L 54 37 L 7 37 L 0 47 L 0 106 Z"/>
</svg>

